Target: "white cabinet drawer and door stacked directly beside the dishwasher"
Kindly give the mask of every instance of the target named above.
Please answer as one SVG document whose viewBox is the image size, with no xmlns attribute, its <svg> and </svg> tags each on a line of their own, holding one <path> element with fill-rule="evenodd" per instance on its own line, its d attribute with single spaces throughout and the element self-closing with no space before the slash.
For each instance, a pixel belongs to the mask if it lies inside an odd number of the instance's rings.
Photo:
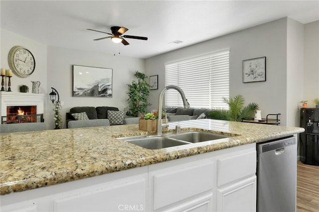
<svg viewBox="0 0 319 212">
<path fill-rule="evenodd" d="M 217 212 L 256 211 L 256 151 L 217 160 Z"/>
</svg>

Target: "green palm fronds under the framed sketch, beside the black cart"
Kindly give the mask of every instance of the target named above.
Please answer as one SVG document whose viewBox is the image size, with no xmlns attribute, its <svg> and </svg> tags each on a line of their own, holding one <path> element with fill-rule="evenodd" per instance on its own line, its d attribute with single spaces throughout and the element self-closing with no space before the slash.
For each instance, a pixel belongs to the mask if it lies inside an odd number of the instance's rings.
<svg viewBox="0 0 319 212">
<path fill-rule="evenodd" d="M 255 110 L 259 109 L 256 103 L 249 103 L 247 106 L 244 106 L 245 99 L 242 95 L 237 95 L 229 99 L 223 98 L 223 102 L 228 104 L 229 109 L 217 108 L 208 115 L 213 119 L 241 121 L 243 118 L 253 118 L 255 116 Z"/>
</svg>

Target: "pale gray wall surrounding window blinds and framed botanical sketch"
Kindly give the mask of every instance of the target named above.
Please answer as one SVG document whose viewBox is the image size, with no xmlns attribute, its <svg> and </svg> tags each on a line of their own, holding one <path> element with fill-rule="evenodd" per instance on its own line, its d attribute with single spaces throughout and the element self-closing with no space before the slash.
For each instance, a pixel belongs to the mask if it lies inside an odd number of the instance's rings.
<svg viewBox="0 0 319 212">
<path fill-rule="evenodd" d="M 146 59 L 146 74 L 159 75 L 159 90 L 150 92 L 149 100 L 153 104 L 150 109 L 158 107 L 160 90 L 165 84 L 164 63 L 224 48 L 230 48 L 230 96 L 242 94 L 247 104 L 257 103 L 262 117 L 282 113 L 281 123 L 286 125 L 287 18 Z M 242 61 L 263 56 L 266 57 L 266 82 L 243 83 Z"/>
</svg>

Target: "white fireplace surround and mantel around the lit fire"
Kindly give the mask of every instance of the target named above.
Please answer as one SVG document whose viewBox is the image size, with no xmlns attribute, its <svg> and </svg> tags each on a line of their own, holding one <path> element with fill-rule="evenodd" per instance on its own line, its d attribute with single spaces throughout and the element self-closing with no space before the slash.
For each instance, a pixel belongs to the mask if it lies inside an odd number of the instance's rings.
<svg viewBox="0 0 319 212">
<path fill-rule="evenodd" d="M 0 92 L 1 116 L 6 116 L 6 106 L 36 106 L 36 114 L 44 113 L 45 94 Z"/>
</svg>

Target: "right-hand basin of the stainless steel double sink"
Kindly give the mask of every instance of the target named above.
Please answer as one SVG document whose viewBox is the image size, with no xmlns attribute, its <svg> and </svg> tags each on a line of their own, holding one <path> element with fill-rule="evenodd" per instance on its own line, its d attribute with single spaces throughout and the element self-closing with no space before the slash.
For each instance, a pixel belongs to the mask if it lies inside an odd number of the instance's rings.
<svg viewBox="0 0 319 212">
<path fill-rule="evenodd" d="M 167 136 L 169 138 L 174 138 L 177 140 L 187 141 L 191 143 L 198 143 L 203 141 L 216 140 L 220 138 L 228 138 L 228 135 L 220 135 L 209 132 L 200 132 L 200 131 L 185 131 L 179 134 L 172 134 Z"/>
</svg>

